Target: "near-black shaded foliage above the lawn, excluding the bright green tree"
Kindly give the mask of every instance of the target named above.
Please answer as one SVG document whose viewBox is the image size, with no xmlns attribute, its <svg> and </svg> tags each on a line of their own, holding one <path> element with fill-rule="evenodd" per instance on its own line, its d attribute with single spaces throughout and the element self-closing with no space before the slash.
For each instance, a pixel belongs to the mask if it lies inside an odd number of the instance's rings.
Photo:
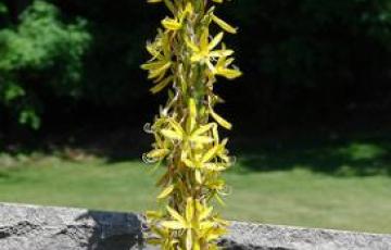
<svg viewBox="0 0 391 250">
<path fill-rule="evenodd" d="M 166 14 L 163 8 L 142 0 L 51 2 L 63 22 L 84 18 L 91 42 L 77 71 L 77 98 L 60 98 L 63 84 L 39 96 L 45 129 L 70 120 L 75 126 L 108 121 L 138 126 L 149 121 L 164 97 L 149 95 L 139 64 L 147 59 L 146 40 Z M 30 4 L 4 3 L 13 16 Z M 229 43 L 238 51 L 244 76 L 235 83 L 222 80 L 218 89 L 228 100 L 222 112 L 234 123 L 263 129 L 370 124 L 382 122 L 391 110 L 390 1 L 235 0 L 220 12 L 240 27 Z M 47 84 L 46 75 L 37 77 Z"/>
</svg>

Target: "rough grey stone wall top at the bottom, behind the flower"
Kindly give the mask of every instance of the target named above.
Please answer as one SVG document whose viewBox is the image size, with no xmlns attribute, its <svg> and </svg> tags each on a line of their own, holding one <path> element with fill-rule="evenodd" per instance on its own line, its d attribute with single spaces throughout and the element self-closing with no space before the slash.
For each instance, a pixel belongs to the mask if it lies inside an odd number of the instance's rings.
<svg viewBox="0 0 391 250">
<path fill-rule="evenodd" d="M 129 250 L 143 245 L 133 213 L 0 203 L 0 250 Z M 220 245 L 236 250 L 391 250 L 391 235 L 232 222 Z"/>
</svg>

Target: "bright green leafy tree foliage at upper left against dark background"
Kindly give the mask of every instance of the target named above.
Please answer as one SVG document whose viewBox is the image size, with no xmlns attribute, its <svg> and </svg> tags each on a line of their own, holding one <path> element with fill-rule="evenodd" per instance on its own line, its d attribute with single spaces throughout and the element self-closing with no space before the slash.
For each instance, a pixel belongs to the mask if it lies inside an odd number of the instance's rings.
<svg viewBox="0 0 391 250">
<path fill-rule="evenodd" d="M 34 1 L 13 21 L 9 5 L 0 1 L 0 103 L 21 124 L 38 128 L 45 109 L 41 90 L 77 97 L 81 58 L 90 36 L 86 21 L 65 24 L 59 10 Z"/>
</svg>

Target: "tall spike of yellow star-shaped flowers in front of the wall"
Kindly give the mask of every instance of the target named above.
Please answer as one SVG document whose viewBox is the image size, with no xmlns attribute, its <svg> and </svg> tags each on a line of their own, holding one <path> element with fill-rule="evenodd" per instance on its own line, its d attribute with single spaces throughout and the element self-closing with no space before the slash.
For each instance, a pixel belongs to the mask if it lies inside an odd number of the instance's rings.
<svg viewBox="0 0 391 250">
<path fill-rule="evenodd" d="M 224 0 L 148 2 L 163 3 L 169 12 L 147 43 L 151 59 L 141 65 L 153 80 L 151 92 L 168 93 L 154 123 L 146 125 L 155 141 L 143 160 L 164 166 L 157 182 L 161 209 L 147 212 L 150 242 L 167 250 L 217 249 L 228 223 L 212 205 L 224 204 L 228 191 L 222 173 L 234 158 L 226 149 L 228 139 L 218 135 L 219 127 L 231 129 L 231 124 L 215 112 L 223 99 L 213 89 L 218 77 L 241 75 L 234 51 L 223 42 L 225 34 L 237 28 L 215 14 L 214 4 Z"/>
</svg>

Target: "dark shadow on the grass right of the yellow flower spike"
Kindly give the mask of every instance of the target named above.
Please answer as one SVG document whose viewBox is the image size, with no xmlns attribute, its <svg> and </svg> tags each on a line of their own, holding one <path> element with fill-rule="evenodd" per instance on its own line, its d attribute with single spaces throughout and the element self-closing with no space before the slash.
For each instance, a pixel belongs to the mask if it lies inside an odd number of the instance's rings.
<svg viewBox="0 0 391 250">
<path fill-rule="evenodd" d="M 307 168 L 335 176 L 391 176 L 391 139 L 351 139 L 238 150 L 241 172 Z"/>
</svg>

